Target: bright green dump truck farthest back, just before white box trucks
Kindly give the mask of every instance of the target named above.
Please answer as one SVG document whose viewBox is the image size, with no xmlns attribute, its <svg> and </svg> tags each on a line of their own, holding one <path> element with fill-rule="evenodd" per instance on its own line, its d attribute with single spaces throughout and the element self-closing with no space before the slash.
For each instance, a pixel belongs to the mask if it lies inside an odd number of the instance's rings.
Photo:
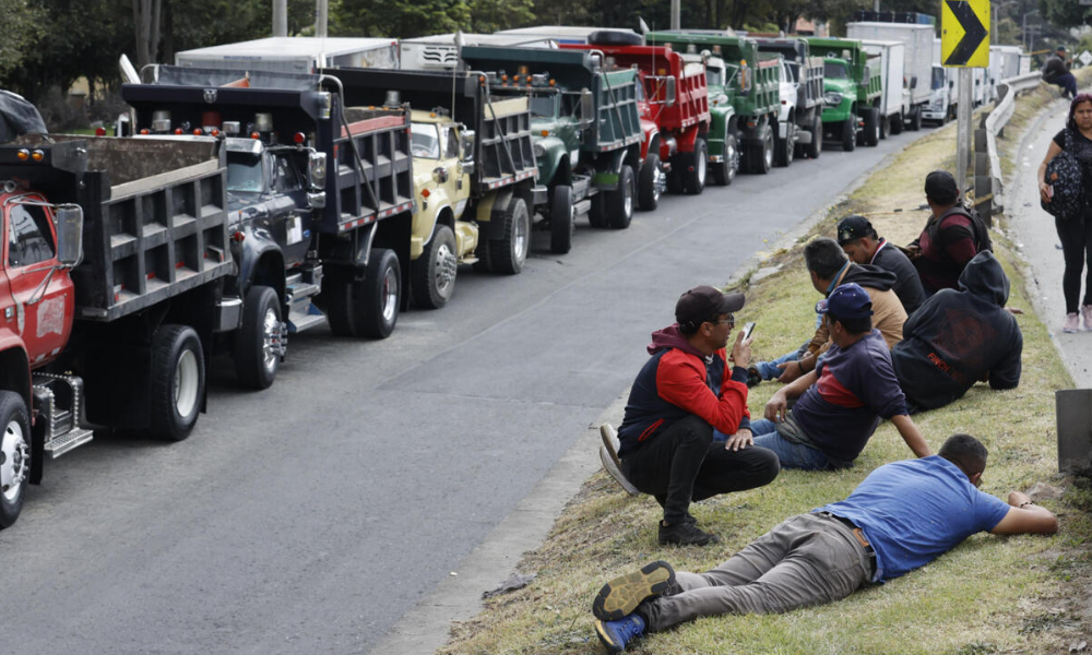
<svg viewBox="0 0 1092 655">
<path fill-rule="evenodd" d="M 867 145 L 879 134 L 882 80 L 873 74 L 860 41 L 808 37 L 811 53 L 823 58 L 823 135 L 852 151 L 862 130 Z M 894 131 L 894 130 L 892 130 Z"/>
</svg>

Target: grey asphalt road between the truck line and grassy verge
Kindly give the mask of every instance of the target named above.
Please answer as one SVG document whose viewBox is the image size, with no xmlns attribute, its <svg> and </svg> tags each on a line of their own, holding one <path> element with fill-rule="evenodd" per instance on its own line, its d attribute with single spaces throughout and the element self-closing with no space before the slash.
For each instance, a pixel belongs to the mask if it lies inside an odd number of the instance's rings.
<svg viewBox="0 0 1092 655">
<path fill-rule="evenodd" d="M 924 134 L 924 132 L 923 132 Z M 534 487 L 631 381 L 678 294 L 723 283 L 885 156 L 824 152 L 452 303 L 377 343 L 293 340 L 273 389 L 219 376 L 189 440 L 105 437 L 0 533 L 4 641 L 27 653 L 360 653 Z"/>
</svg>

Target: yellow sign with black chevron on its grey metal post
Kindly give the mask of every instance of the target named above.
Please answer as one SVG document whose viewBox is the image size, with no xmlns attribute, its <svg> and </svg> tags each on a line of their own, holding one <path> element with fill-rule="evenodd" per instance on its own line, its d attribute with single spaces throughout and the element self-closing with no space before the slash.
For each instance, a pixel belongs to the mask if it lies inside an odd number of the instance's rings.
<svg viewBox="0 0 1092 655">
<path fill-rule="evenodd" d="M 940 62 L 959 72 L 956 126 L 956 183 L 966 192 L 971 162 L 971 108 L 974 79 L 971 68 L 989 67 L 989 0 L 942 0 L 940 3 Z"/>
</svg>

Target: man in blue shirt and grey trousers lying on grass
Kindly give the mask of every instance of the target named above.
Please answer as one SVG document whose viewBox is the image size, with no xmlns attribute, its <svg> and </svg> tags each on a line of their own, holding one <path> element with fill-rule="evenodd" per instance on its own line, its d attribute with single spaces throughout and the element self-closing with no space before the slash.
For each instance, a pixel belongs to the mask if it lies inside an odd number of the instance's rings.
<svg viewBox="0 0 1092 655">
<path fill-rule="evenodd" d="M 986 448 L 956 434 L 939 455 L 880 466 L 854 492 L 768 532 L 705 573 L 653 562 L 608 582 L 592 612 L 613 653 L 645 632 L 699 617 L 773 614 L 839 600 L 924 567 L 966 537 L 1052 534 L 1058 520 L 1020 491 L 977 490 Z"/>
</svg>

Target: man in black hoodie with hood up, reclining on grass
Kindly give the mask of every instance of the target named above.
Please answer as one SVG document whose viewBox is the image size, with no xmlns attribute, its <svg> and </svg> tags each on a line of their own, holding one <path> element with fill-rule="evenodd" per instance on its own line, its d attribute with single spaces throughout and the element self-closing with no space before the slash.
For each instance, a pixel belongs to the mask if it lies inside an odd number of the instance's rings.
<svg viewBox="0 0 1092 655">
<path fill-rule="evenodd" d="M 1005 311 L 1008 299 L 1000 262 L 980 252 L 963 269 L 958 291 L 937 291 L 906 321 L 891 360 L 912 406 L 943 407 L 977 380 L 988 379 L 992 389 L 1020 384 L 1023 336 Z"/>
</svg>

